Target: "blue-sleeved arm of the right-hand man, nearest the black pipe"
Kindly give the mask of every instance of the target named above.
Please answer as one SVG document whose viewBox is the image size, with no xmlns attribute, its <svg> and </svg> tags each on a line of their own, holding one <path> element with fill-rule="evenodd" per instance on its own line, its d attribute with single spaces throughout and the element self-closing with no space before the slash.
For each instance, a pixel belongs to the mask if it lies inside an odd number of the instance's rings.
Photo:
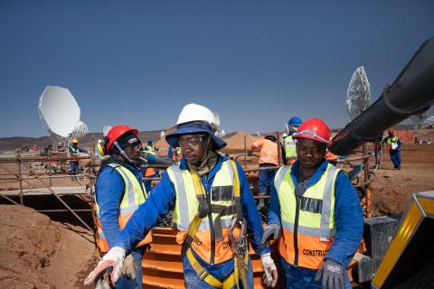
<svg viewBox="0 0 434 289">
<path fill-rule="evenodd" d="M 343 171 L 335 181 L 335 228 L 335 241 L 325 258 L 346 267 L 362 241 L 363 210 L 353 184 Z"/>
</svg>

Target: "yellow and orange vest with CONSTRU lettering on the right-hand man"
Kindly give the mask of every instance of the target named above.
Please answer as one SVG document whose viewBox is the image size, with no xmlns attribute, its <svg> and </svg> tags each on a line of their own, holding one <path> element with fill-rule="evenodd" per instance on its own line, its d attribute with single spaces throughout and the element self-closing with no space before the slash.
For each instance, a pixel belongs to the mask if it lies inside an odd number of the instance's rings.
<svg viewBox="0 0 434 289">
<path fill-rule="evenodd" d="M 320 180 L 297 198 L 291 167 L 282 166 L 274 180 L 282 223 L 278 251 L 293 266 L 319 269 L 335 239 L 335 180 L 340 169 L 328 163 Z"/>
</svg>

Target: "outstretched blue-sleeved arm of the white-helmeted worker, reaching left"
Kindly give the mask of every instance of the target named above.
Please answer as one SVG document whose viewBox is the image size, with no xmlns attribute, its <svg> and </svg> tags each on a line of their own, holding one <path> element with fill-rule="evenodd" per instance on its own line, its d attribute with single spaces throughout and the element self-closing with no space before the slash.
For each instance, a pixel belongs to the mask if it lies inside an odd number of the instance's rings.
<svg viewBox="0 0 434 289">
<path fill-rule="evenodd" d="M 156 184 L 146 201 L 138 207 L 128 220 L 127 226 L 120 232 L 116 246 L 130 250 L 167 215 L 174 204 L 174 184 L 169 180 L 167 172 L 164 172 L 161 182 Z"/>
</svg>

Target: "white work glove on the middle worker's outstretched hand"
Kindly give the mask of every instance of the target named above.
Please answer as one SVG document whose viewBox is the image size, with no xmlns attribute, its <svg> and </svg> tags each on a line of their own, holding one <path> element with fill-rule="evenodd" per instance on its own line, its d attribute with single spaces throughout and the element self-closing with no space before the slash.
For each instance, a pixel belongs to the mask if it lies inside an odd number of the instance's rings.
<svg viewBox="0 0 434 289">
<path fill-rule="evenodd" d="M 102 257 L 99 261 L 98 266 L 90 272 L 90 275 L 84 279 L 84 284 L 89 285 L 94 282 L 101 275 L 106 275 L 103 280 L 99 279 L 97 282 L 97 289 L 105 289 L 108 283 L 115 285 L 118 281 L 119 276 L 122 274 L 122 266 L 125 259 L 126 251 L 123 247 L 112 247 L 109 252 Z M 113 271 L 109 273 L 109 278 L 107 277 L 107 269 L 113 267 Z M 110 279 L 109 282 L 107 279 Z"/>
</svg>

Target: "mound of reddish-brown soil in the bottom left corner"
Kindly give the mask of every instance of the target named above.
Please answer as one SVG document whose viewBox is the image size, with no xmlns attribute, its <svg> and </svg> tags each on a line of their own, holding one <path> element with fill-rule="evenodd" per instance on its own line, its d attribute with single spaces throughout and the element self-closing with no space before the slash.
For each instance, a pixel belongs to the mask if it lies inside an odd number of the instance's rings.
<svg viewBox="0 0 434 289">
<path fill-rule="evenodd" d="M 80 288 L 94 266 L 92 233 L 33 209 L 0 205 L 0 288 Z"/>
</svg>

